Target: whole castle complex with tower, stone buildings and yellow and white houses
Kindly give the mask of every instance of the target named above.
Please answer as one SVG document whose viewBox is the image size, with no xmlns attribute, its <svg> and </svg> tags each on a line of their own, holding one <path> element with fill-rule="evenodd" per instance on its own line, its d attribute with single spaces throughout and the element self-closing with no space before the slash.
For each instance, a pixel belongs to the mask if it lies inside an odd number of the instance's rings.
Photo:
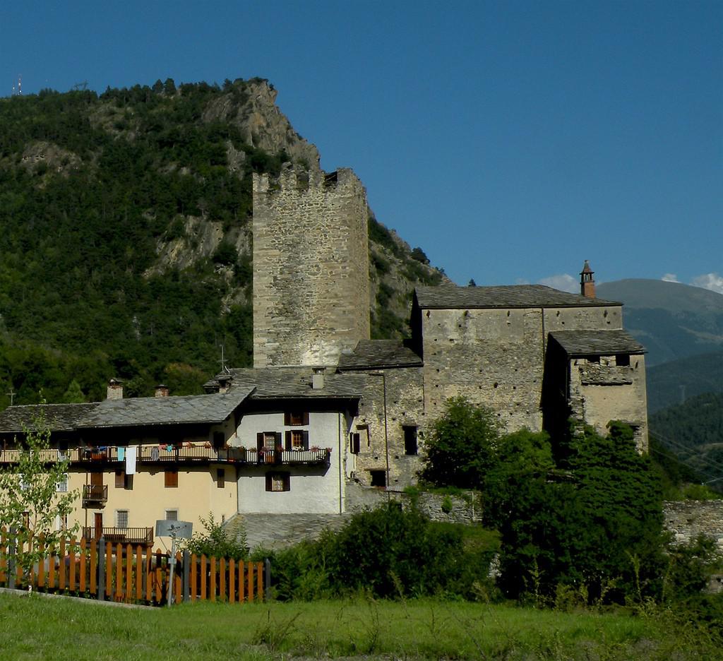
<svg viewBox="0 0 723 661">
<path fill-rule="evenodd" d="M 622 305 L 541 285 L 419 287 L 411 338 L 372 340 L 364 187 L 351 170 L 254 175 L 254 367 L 207 394 L 11 406 L 0 467 L 42 410 L 49 451 L 70 460 L 69 523 L 153 543 L 157 519 L 214 513 L 344 513 L 360 489 L 401 489 L 422 467 L 429 424 L 453 396 L 508 431 L 570 417 L 630 423 L 647 449 L 643 346 Z M 48 456 L 48 460 L 51 456 Z M 59 521 L 58 525 L 67 524 Z M 111 524 L 111 525 L 108 525 Z M 145 540 L 145 542 L 143 541 Z"/>
</svg>

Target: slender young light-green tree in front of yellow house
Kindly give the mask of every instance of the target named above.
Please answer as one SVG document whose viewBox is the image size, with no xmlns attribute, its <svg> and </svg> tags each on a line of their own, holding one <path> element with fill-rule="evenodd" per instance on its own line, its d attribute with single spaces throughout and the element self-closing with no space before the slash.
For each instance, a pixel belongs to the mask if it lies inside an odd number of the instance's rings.
<svg viewBox="0 0 723 661">
<path fill-rule="evenodd" d="M 0 527 L 16 532 L 17 562 L 27 575 L 61 537 L 77 531 L 77 523 L 67 528 L 65 522 L 79 493 L 67 490 L 69 460 L 51 449 L 42 411 L 23 437 L 16 443 L 17 463 L 0 472 Z M 41 535 L 44 545 L 33 542 Z"/>
</svg>

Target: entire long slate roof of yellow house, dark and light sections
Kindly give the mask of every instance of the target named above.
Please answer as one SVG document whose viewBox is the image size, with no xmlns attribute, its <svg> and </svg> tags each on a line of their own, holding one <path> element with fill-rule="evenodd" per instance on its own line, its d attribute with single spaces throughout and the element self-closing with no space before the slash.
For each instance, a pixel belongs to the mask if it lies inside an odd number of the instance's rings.
<svg viewBox="0 0 723 661">
<path fill-rule="evenodd" d="M 239 388 L 232 393 L 182 397 L 132 397 L 106 399 L 93 404 L 41 404 L 9 406 L 0 413 L 0 433 L 32 429 L 42 411 L 54 432 L 97 427 L 181 425 L 223 422 L 251 393 Z"/>
</svg>

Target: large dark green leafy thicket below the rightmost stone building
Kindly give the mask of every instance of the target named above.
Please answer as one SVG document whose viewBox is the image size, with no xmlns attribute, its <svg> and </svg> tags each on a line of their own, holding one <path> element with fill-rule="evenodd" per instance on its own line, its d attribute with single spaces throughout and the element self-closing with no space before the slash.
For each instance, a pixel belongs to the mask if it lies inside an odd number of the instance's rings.
<svg viewBox="0 0 723 661">
<path fill-rule="evenodd" d="M 563 584 L 586 586 L 590 600 L 659 595 L 662 495 L 649 457 L 618 423 L 607 437 L 587 429 L 565 445 L 567 473 L 521 481 L 500 516 L 505 592 L 550 597 Z"/>
</svg>

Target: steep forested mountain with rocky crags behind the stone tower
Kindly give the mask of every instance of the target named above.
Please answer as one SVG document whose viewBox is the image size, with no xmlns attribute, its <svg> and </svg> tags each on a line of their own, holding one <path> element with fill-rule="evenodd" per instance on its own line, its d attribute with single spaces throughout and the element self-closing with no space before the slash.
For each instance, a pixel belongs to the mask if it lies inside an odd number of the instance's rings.
<svg viewBox="0 0 723 661">
<path fill-rule="evenodd" d="M 0 99 L 0 408 L 198 392 L 252 347 L 252 172 L 318 169 L 265 80 Z M 369 213 L 375 337 L 406 333 L 424 252 Z"/>
</svg>

